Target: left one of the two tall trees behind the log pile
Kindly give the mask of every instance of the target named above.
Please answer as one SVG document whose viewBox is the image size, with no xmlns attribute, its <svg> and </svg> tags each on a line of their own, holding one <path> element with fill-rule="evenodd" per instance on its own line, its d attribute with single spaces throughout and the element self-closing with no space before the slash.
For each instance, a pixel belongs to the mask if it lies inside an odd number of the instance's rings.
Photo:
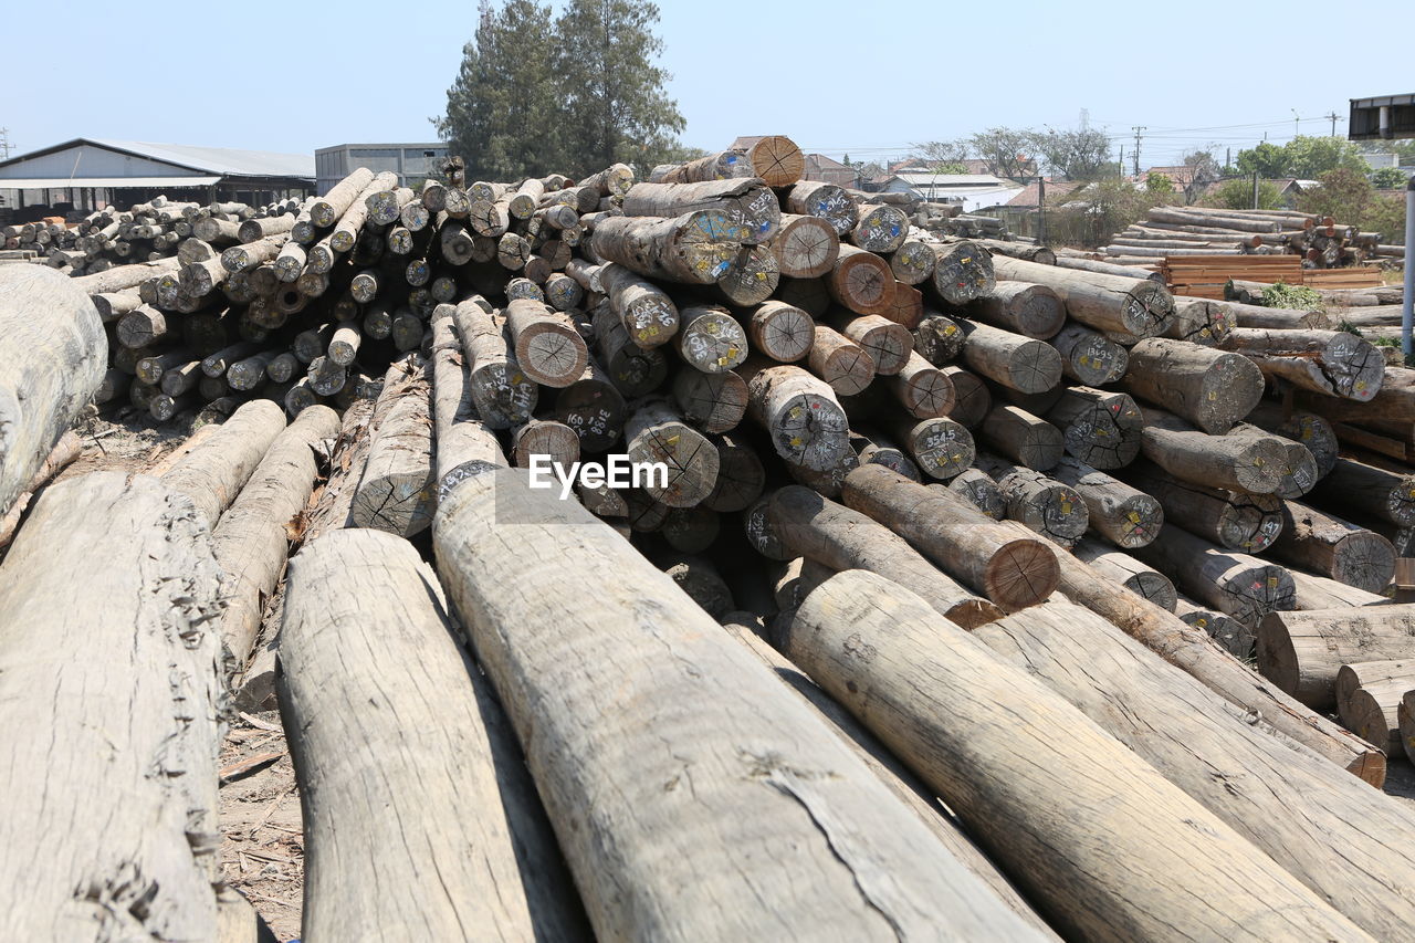
<svg viewBox="0 0 1415 943">
<path fill-rule="evenodd" d="M 565 112 L 545 55 L 553 33 L 549 6 L 508 0 L 492 10 L 483 0 L 447 113 L 433 119 L 449 150 L 467 161 L 468 180 L 518 180 L 559 163 Z"/>
</svg>

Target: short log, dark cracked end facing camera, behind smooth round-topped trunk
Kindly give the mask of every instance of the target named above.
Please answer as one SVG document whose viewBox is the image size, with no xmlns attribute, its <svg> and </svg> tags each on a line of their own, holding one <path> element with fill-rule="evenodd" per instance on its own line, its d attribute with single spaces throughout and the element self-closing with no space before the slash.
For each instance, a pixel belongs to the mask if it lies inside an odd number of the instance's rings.
<svg viewBox="0 0 1415 943">
<path fill-rule="evenodd" d="M 406 358 L 383 374 L 368 464 L 350 505 L 355 527 L 412 537 L 432 524 L 437 477 L 429 372 L 417 358 Z"/>
</svg>

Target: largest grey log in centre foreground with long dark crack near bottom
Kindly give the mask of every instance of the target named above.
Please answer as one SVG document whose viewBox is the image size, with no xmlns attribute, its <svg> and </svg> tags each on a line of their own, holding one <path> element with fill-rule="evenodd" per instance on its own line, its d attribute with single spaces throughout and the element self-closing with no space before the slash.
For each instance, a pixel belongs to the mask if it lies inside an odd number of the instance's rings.
<svg viewBox="0 0 1415 943">
<path fill-rule="evenodd" d="M 524 521 L 514 537 L 507 514 Z M 449 494 L 434 545 L 599 937 L 686 940 L 713 926 L 743 939 L 896 939 L 930 933 L 944 913 L 962 935 L 1030 939 L 828 726 L 583 508 L 485 471 Z M 542 566 L 512 592 L 498 561 L 526 554 Z M 624 619 L 625 606 L 655 615 Z M 645 705 L 674 722 L 606 724 Z M 674 753 L 695 758 L 692 790 Z M 601 797 L 594 816 L 587 787 Z M 843 859 L 821 821 L 852 823 Z M 889 899 L 860 889 L 856 854 L 896 876 Z M 717 876 L 691 876 L 703 868 Z M 814 878 L 737 906 L 781 868 Z"/>
</svg>

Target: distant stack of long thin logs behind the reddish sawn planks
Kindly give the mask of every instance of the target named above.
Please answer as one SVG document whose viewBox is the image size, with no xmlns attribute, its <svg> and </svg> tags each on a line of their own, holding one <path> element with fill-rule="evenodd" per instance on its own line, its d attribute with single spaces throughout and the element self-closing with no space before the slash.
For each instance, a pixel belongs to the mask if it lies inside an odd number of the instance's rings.
<svg viewBox="0 0 1415 943">
<path fill-rule="evenodd" d="M 1378 232 L 1295 210 L 1153 207 L 1104 248 L 1119 265 L 1149 266 L 1172 256 L 1299 255 L 1303 268 L 1360 265 L 1382 253 Z M 1395 246 L 1388 246 L 1395 248 Z"/>
</svg>

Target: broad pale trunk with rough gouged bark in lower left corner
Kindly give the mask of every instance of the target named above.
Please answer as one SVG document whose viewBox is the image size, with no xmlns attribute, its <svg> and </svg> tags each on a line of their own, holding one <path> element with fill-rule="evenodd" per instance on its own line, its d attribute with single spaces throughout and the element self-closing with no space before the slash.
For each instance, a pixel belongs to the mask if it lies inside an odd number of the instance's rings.
<svg viewBox="0 0 1415 943">
<path fill-rule="evenodd" d="M 215 939 L 219 579 L 156 479 L 34 503 L 0 566 L 4 939 Z"/>
</svg>

